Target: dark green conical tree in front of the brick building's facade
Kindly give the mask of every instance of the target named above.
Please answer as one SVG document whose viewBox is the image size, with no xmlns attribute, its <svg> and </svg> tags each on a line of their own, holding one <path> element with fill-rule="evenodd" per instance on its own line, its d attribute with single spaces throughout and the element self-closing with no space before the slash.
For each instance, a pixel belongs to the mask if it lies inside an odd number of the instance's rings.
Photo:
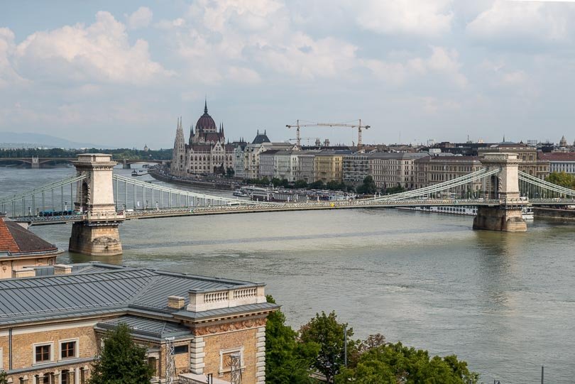
<svg viewBox="0 0 575 384">
<path fill-rule="evenodd" d="M 107 334 L 104 348 L 93 364 L 89 384 L 150 383 L 153 369 L 146 363 L 146 348 L 136 345 L 126 324 Z"/>
</svg>

